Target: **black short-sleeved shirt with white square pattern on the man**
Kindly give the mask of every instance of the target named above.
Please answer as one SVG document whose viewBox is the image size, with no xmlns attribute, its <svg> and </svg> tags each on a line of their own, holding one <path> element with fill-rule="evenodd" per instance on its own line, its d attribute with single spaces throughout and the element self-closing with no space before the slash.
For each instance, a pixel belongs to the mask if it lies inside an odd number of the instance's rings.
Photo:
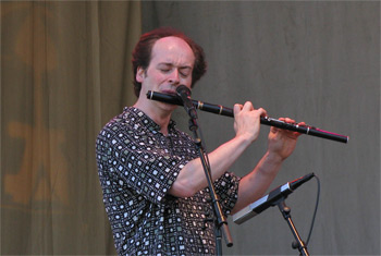
<svg viewBox="0 0 381 256">
<path fill-rule="evenodd" d="M 209 190 L 186 198 L 168 194 L 182 168 L 198 157 L 174 121 L 164 136 L 143 111 L 125 108 L 99 133 L 96 149 L 119 255 L 216 254 Z M 238 182 L 229 172 L 214 182 L 224 215 L 236 203 Z"/>
</svg>

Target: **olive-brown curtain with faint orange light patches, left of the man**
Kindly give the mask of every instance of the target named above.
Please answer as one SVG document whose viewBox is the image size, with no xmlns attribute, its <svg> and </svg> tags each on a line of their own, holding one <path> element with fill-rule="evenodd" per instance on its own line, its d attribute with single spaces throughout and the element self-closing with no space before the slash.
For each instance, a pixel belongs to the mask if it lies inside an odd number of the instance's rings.
<svg viewBox="0 0 381 256">
<path fill-rule="evenodd" d="M 1 2 L 1 255 L 114 254 L 95 160 L 135 100 L 139 2 Z"/>
</svg>

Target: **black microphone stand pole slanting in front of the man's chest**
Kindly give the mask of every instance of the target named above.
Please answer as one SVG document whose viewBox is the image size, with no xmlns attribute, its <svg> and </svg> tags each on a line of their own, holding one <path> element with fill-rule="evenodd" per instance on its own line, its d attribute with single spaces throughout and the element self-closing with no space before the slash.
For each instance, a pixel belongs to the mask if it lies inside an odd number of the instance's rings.
<svg viewBox="0 0 381 256">
<path fill-rule="evenodd" d="M 218 195 L 214 190 L 214 185 L 211 179 L 211 173 L 210 173 L 210 166 L 208 164 L 209 162 L 207 161 L 206 153 L 202 147 L 202 142 L 201 138 L 198 136 L 197 133 L 197 122 L 196 119 L 192 118 L 189 119 L 189 130 L 193 132 L 194 137 L 195 137 L 195 143 L 196 147 L 204 167 L 205 175 L 207 178 L 208 186 L 209 186 L 209 193 L 210 193 L 210 198 L 211 203 L 213 206 L 214 210 L 214 217 L 216 217 L 216 224 L 214 224 L 214 233 L 216 233 L 216 251 L 217 255 L 222 255 L 222 242 L 221 242 L 221 233 L 223 234 L 225 239 L 225 243 L 228 247 L 233 246 L 233 240 L 228 227 L 228 221 L 222 214 L 221 205 L 218 198 Z"/>
</svg>

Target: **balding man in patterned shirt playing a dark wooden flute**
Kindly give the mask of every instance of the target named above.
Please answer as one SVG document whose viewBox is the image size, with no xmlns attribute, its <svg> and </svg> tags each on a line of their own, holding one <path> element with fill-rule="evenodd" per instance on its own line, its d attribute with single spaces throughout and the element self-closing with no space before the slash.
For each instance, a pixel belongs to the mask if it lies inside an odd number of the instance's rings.
<svg viewBox="0 0 381 256">
<path fill-rule="evenodd" d="M 205 172 L 193 139 L 175 129 L 176 108 L 149 100 L 148 90 L 175 94 L 192 88 L 206 71 L 202 49 L 169 28 L 140 37 L 134 53 L 133 107 L 112 119 L 97 139 L 103 202 L 120 255 L 216 254 L 213 210 Z M 298 133 L 271 127 L 268 150 L 244 178 L 229 168 L 256 141 L 263 109 L 251 102 L 234 106 L 236 135 L 209 154 L 211 175 L 224 215 L 260 198 L 283 160 L 295 148 Z M 281 119 L 294 122 L 291 119 Z"/>
</svg>

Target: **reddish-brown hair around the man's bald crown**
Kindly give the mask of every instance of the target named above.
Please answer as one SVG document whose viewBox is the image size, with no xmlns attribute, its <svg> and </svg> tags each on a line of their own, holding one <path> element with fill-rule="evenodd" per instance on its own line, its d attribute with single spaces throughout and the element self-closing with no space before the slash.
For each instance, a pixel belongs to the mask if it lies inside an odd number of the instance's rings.
<svg viewBox="0 0 381 256">
<path fill-rule="evenodd" d="M 194 87 L 195 83 L 199 78 L 201 78 L 201 76 L 206 73 L 207 63 L 205 60 L 205 53 L 199 45 L 197 45 L 193 39 L 187 37 L 184 33 L 176 31 L 172 27 L 156 28 L 151 32 L 143 34 L 133 51 L 132 63 L 134 70 L 134 92 L 136 97 L 139 97 L 142 89 L 142 83 L 136 81 L 137 69 L 139 66 L 144 70 L 148 68 L 149 62 L 151 60 L 151 51 L 155 42 L 160 38 L 169 36 L 179 37 L 185 40 L 189 45 L 193 53 L 195 54 L 195 63 L 192 73 L 192 88 Z"/>
</svg>

